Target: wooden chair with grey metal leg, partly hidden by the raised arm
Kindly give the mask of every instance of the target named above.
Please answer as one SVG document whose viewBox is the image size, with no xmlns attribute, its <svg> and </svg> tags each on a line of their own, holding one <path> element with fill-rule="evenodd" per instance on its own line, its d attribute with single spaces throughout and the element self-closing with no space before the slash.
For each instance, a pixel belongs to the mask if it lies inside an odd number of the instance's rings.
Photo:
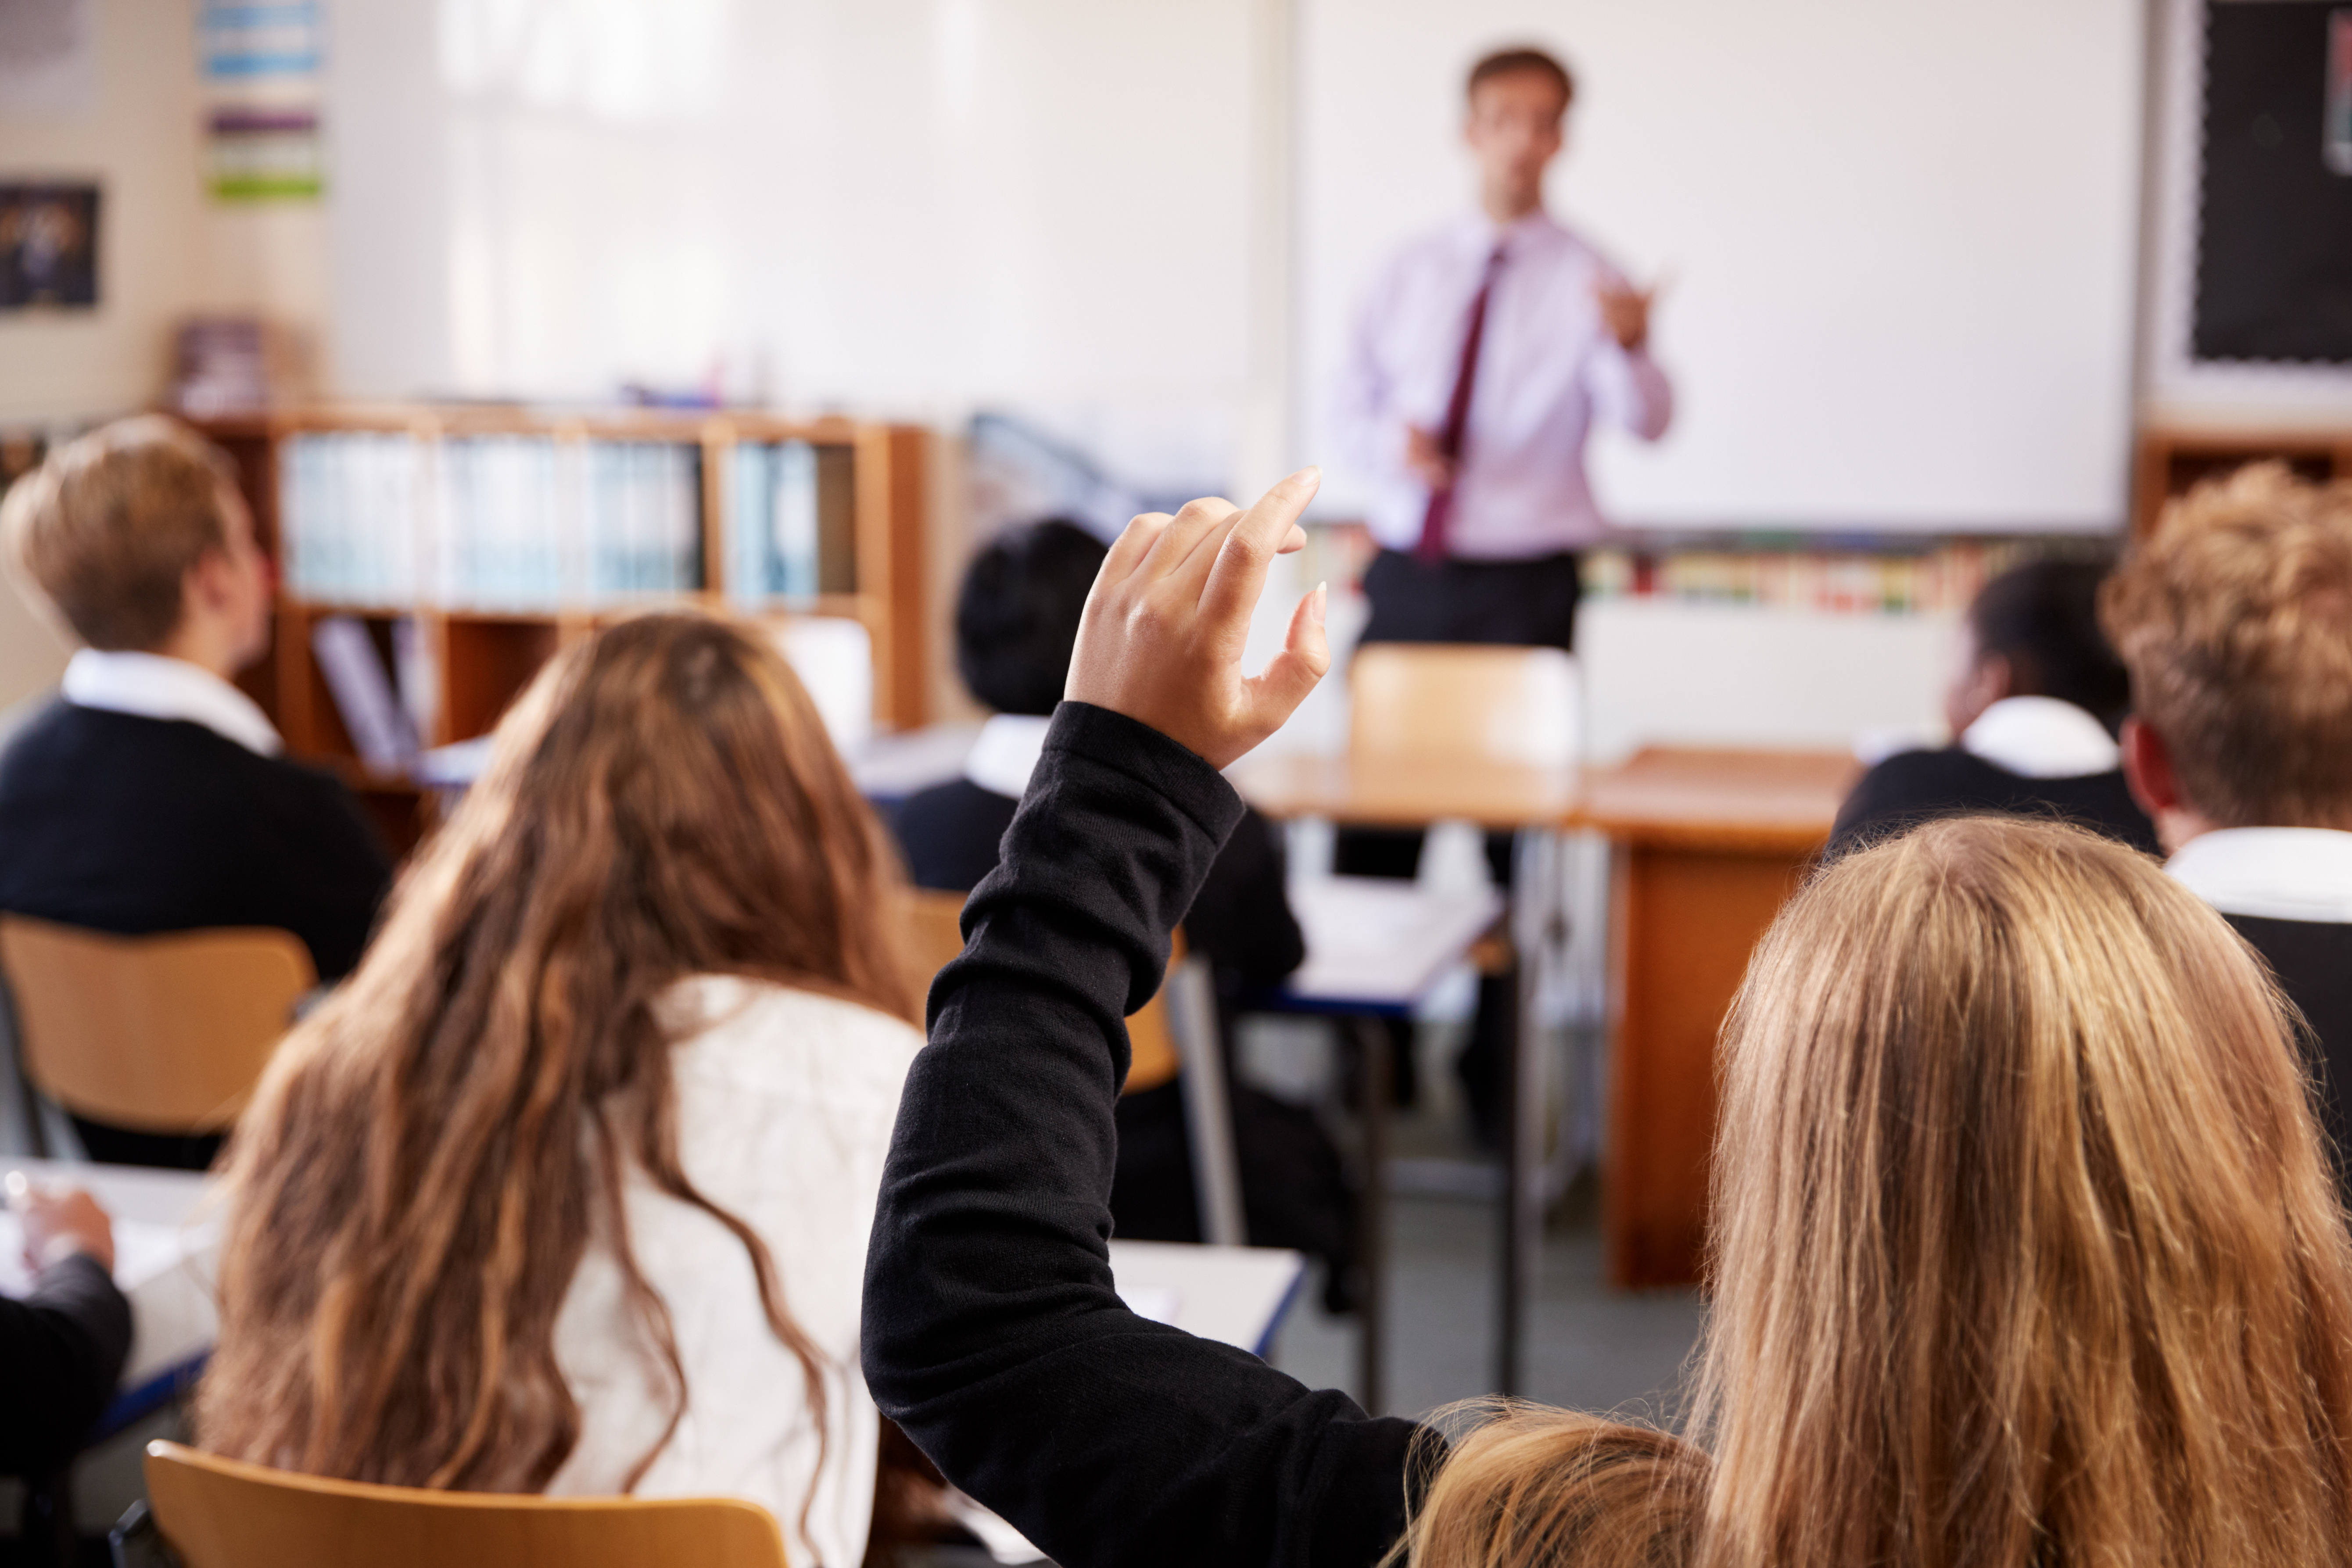
<svg viewBox="0 0 2352 1568">
<path fill-rule="evenodd" d="M 915 889 L 908 893 L 910 961 L 922 980 L 946 969 L 964 950 L 964 896 Z M 1183 931 L 1169 950 L 1169 973 L 1160 994 L 1127 1020 L 1127 1084 L 1122 1095 L 1160 1088 L 1183 1074 L 1185 1143 L 1192 1150 L 1192 1197 L 1202 1237 L 1218 1246 L 1242 1246 L 1242 1171 L 1232 1147 L 1232 1100 L 1225 1088 L 1225 1053 L 1216 1039 L 1216 987 L 1209 961 L 1188 957 Z"/>
</svg>

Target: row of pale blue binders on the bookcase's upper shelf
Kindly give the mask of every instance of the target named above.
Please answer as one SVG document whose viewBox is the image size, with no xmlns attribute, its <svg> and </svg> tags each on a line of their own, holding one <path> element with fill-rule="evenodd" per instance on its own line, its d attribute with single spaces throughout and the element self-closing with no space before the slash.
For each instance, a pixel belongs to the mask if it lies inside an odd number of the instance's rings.
<svg viewBox="0 0 2352 1568">
<path fill-rule="evenodd" d="M 280 444 L 287 590 L 318 604 L 548 611 L 724 585 L 739 602 L 849 592 L 847 451 L 550 435 L 336 430 Z M 722 559 L 706 562 L 703 487 Z M 720 567 L 713 581 L 708 567 Z"/>
</svg>

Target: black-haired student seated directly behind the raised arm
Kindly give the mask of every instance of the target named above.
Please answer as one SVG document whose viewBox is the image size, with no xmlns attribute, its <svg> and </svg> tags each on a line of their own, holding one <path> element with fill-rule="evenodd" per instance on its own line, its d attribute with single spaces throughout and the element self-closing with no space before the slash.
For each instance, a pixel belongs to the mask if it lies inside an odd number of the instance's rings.
<svg viewBox="0 0 2352 1568">
<path fill-rule="evenodd" d="M 964 569 L 955 668 L 995 715 L 981 726 L 964 776 L 913 795 L 894 816 L 915 886 L 969 893 L 995 870 L 997 844 L 1014 823 L 1049 715 L 1061 703 L 1103 555 L 1101 538 L 1051 517 L 1000 534 Z M 1256 811 L 1242 813 L 1209 865 L 1183 933 L 1192 952 L 1207 954 L 1228 1018 L 1249 990 L 1279 985 L 1305 959 L 1284 889 L 1282 837 Z M 1352 1300 L 1355 1222 L 1338 1152 L 1303 1107 L 1244 1084 L 1235 1084 L 1230 1100 L 1249 1239 L 1324 1260 L 1327 1302 L 1343 1307 Z M 1120 1178 L 1110 1213 L 1120 1234 L 1200 1241 L 1183 1086 L 1122 1095 L 1117 1119 Z"/>
</svg>

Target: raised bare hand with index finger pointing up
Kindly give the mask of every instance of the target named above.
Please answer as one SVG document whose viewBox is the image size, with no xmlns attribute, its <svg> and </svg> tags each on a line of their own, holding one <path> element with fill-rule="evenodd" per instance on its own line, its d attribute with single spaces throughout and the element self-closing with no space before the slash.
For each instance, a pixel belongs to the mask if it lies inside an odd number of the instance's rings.
<svg viewBox="0 0 2352 1568">
<path fill-rule="evenodd" d="M 1298 599 L 1261 675 L 1242 675 L 1242 644 L 1265 567 L 1308 541 L 1298 515 L 1319 487 L 1322 470 L 1301 468 L 1247 512 L 1211 498 L 1129 522 L 1087 595 L 1063 696 L 1150 724 L 1211 766 L 1282 729 L 1331 668 L 1324 590 Z"/>
</svg>

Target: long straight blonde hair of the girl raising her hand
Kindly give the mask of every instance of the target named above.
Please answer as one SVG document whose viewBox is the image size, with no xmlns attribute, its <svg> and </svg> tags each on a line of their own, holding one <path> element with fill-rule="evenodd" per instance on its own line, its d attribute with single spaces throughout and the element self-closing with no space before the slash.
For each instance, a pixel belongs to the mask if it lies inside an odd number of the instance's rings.
<svg viewBox="0 0 2352 1568">
<path fill-rule="evenodd" d="M 1820 872 L 1724 1027 L 1705 1453 L 1611 1476 L 1621 1429 L 1517 1413 L 1414 1561 L 1578 1561 L 1543 1544 L 1602 1479 L 1708 1568 L 2352 1561 L 2352 1265 L 2288 1030 L 2218 914 L 2082 830 Z M 1505 1523 L 1531 1474 L 1597 1479 Z"/>
</svg>

